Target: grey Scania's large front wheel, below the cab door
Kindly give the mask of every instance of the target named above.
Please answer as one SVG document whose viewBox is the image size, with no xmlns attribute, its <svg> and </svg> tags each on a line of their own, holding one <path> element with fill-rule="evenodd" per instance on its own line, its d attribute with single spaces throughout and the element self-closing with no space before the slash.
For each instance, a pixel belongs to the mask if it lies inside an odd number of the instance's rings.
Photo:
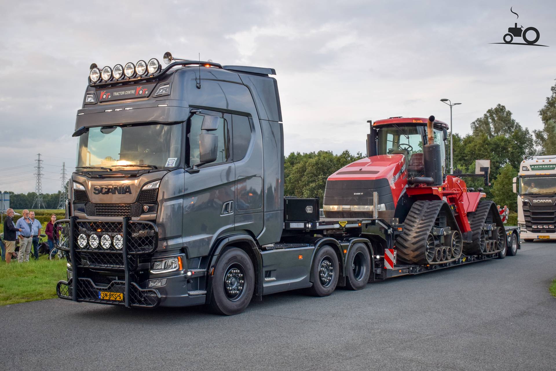
<svg viewBox="0 0 556 371">
<path fill-rule="evenodd" d="M 236 273 L 235 270 L 239 273 Z M 226 278 L 230 277 L 233 282 L 226 284 Z M 244 278 L 243 283 L 241 283 L 242 278 Z M 212 276 L 209 309 L 216 314 L 239 314 L 249 305 L 254 288 L 255 270 L 249 255 L 238 248 L 226 250 L 220 256 L 214 270 L 214 276 Z M 239 292 L 235 294 L 235 291 Z"/>
</svg>

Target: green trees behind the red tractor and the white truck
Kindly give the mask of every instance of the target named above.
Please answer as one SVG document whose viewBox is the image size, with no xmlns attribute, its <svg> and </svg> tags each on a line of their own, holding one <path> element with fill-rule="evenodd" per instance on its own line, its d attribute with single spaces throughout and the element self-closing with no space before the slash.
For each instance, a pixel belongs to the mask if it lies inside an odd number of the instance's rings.
<svg viewBox="0 0 556 371">
<path fill-rule="evenodd" d="M 489 108 L 482 117 L 471 122 L 471 133 L 454 133 L 454 168 L 463 173 L 475 172 L 475 160 L 490 160 L 490 182 L 485 187 L 481 178 L 465 177 L 468 187 L 483 187 L 489 199 L 517 211 L 517 195 L 512 180 L 519 164 L 527 156 L 556 155 L 556 85 L 550 88 L 544 107 L 539 110 L 542 130 L 530 132 L 512 117 L 504 105 Z M 449 141 L 448 141 L 449 142 Z M 449 143 L 446 154 L 450 153 Z M 449 156 L 449 155 L 448 155 Z M 339 155 L 331 151 L 291 152 L 284 162 L 284 194 L 297 197 L 320 197 L 329 175 L 355 160 L 363 158 L 345 150 Z"/>
</svg>

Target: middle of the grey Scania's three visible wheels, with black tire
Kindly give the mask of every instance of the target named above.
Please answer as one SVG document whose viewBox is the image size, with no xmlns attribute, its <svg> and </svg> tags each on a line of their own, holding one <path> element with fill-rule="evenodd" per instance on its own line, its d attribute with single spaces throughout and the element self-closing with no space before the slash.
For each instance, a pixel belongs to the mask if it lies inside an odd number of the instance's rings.
<svg viewBox="0 0 556 371">
<path fill-rule="evenodd" d="M 321 276 L 321 273 L 324 276 Z M 313 285 L 309 288 L 311 295 L 328 296 L 332 294 L 340 275 L 340 264 L 336 251 L 330 246 L 322 246 L 313 260 L 311 274 L 313 276 Z"/>
</svg>

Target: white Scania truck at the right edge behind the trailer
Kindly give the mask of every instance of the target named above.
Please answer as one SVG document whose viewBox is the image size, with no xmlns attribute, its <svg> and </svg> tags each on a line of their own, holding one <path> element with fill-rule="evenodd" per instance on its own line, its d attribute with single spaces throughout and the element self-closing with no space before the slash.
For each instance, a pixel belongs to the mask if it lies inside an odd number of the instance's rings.
<svg viewBox="0 0 556 371">
<path fill-rule="evenodd" d="M 556 239 L 556 155 L 523 160 L 514 178 L 518 226 L 526 242 Z"/>
</svg>

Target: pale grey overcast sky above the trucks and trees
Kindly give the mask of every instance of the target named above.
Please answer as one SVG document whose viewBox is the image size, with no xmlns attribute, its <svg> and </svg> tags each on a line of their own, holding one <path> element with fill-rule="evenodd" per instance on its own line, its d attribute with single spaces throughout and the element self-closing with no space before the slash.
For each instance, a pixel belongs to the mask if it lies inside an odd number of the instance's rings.
<svg viewBox="0 0 556 371">
<path fill-rule="evenodd" d="M 468 133 L 497 103 L 539 129 L 556 78 L 554 1 L 1 0 L 0 9 L 0 190 L 15 192 L 34 190 L 26 165 L 39 152 L 44 192 L 59 189 L 62 161 L 75 166 L 71 133 L 92 62 L 161 61 L 170 51 L 275 68 L 286 154 L 365 152 L 367 120 L 449 122 L 440 98 L 462 103 L 454 132 Z M 549 47 L 490 44 L 514 22 L 536 27 Z"/>
</svg>

